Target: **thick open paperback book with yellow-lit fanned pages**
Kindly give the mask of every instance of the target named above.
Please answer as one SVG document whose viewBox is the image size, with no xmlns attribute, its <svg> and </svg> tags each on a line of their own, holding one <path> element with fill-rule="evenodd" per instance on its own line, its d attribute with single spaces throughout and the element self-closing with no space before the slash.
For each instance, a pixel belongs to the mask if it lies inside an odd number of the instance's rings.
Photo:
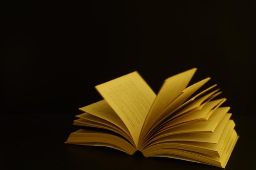
<svg viewBox="0 0 256 170">
<path fill-rule="evenodd" d="M 65 143 L 225 168 L 239 136 L 216 84 L 202 87 L 209 77 L 188 86 L 196 69 L 165 79 L 157 95 L 137 71 L 95 86 L 103 99 L 79 108 Z"/>
</svg>

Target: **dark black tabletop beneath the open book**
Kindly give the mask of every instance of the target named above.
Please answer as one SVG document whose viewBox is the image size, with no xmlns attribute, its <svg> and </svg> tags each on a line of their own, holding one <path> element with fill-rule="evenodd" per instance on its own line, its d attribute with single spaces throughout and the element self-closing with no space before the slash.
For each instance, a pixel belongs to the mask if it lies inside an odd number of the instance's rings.
<svg viewBox="0 0 256 170">
<path fill-rule="evenodd" d="M 254 169 L 254 118 L 232 115 L 240 135 L 226 170 Z M 64 144 L 72 128 L 72 114 L 5 114 L 1 121 L 0 169 L 172 169 L 221 168 L 169 158 L 126 155 L 105 147 Z"/>
</svg>

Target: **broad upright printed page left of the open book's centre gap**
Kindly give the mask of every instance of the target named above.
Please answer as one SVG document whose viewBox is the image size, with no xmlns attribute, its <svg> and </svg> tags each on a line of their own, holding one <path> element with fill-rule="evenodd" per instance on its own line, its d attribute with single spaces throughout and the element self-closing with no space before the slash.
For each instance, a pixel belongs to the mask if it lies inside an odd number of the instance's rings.
<svg viewBox="0 0 256 170">
<path fill-rule="evenodd" d="M 146 115 L 156 97 L 154 91 L 137 71 L 95 88 L 124 122 L 137 144 Z"/>
</svg>

